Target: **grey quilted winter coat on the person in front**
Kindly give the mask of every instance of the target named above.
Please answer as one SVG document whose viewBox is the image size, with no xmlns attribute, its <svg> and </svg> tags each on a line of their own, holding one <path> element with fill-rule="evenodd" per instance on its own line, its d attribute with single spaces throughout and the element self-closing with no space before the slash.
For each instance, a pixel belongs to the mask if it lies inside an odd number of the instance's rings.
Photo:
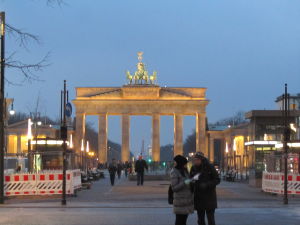
<svg viewBox="0 0 300 225">
<path fill-rule="evenodd" d="M 173 168 L 171 171 L 171 188 L 173 190 L 173 212 L 187 215 L 194 212 L 193 193 L 190 185 L 184 181 L 189 178 L 188 172 L 183 176 L 180 171 Z"/>
</svg>

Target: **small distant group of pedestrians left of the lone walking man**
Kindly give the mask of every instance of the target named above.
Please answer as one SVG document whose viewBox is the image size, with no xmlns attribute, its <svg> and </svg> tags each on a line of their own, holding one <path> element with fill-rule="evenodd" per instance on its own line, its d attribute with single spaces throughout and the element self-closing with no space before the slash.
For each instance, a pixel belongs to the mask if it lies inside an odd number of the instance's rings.
<svg viewBox="0 0 300 225">
<path fill-rule="evenodd" d="M 122 171 L 125 171 L 125 177 L 128 176 L 128 173 L 131 172 L 131 163 L 121 161 L 117 161 L 116 159 L 112 159 L 111 163 L 108 165 L 108 172 L 110 177 L 110 183 L 112 186 L 115 185 L 116 175 L 118 179 L 121 179 Z"/>
</svg>

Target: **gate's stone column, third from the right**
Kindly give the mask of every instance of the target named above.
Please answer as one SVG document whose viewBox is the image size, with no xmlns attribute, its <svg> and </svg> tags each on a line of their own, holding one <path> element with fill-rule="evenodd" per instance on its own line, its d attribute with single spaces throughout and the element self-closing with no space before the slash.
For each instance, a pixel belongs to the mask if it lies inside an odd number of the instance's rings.
<svg viewBox="0 0 300 225">
<path fill-rule="evenodd" d="M 152 159 L 160 162 L 160 115 L 152 116 Z"/>
</svg>

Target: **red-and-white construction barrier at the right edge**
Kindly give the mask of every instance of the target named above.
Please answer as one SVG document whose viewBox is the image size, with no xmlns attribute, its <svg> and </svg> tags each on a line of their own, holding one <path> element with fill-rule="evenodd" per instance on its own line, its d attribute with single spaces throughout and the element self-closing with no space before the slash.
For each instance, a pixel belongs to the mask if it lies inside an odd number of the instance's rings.
<svg viewBox="0 0 300 225">
<path fill-rule="evenodd" d="M 262 190 L 264 192 L 283 194 L 284 174 L 263 172 Z M 299 174 L 288 174 L 288 194 L 300 194 Z"/>
</svg>

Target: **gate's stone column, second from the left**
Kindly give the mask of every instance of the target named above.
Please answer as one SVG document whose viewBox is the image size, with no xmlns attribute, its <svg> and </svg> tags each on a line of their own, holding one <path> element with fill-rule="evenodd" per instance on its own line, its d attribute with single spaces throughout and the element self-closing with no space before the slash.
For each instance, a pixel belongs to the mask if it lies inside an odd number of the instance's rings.
<svg viewBox="0 0 300 225">
<path fill-rule="evenodd" d="M 98 157 L 100 163 L 107 162 L 107 114 L 99 115 Z"/>
</svg>

